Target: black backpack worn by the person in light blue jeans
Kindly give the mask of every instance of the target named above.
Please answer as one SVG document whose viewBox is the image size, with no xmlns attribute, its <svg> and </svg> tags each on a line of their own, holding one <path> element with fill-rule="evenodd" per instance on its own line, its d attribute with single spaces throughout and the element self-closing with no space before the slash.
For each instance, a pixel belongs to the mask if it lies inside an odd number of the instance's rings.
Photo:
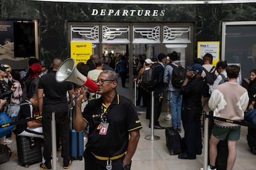
<svg viewBox="0 0 256 170">
<path fill-rule="evenodd" d="M 173 87 L 181 88 L 183 81 L 186 78 L 187 70 L 180 65 L 178 67 L 173 64 L 170 65 L 173 67 L 171 83 L 173 84 Z"/>
</svg>

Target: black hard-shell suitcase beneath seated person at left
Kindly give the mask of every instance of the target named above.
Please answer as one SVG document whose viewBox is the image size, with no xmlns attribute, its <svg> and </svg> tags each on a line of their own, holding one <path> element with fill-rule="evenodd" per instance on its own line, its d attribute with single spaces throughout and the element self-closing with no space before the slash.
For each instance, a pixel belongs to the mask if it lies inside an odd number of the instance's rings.
<svg viewBox="0 0 256 170">
<path fill-rule="evenodd" d="M 16 136 L 19 165 L 28 168 L 30 164 L 42 161 L 41 139 L 39 137 Z"/>
</svg>

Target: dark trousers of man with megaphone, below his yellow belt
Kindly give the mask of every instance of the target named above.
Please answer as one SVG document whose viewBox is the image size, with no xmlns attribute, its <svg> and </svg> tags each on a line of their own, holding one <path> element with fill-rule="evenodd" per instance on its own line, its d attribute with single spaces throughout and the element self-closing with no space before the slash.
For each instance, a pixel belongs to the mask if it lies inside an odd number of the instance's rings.
<svg viewBox="0 0 256 170">
<path fill-rule="evenodd" d="M 98 160 L 97 158 L 95 158 L 95 156 L 92 155 L 92 153 L 90 153 L 90 151 L 88 151 L 88 149 L 85 149 L 85 152 L 83 153 L 83 158 L 85 159 L 85 170 L 106 170 L 107 161 Z M 112 169 L 124 170 L 124 168 L 122 168 L 122 160 L 124 160 L 124 156 L 117 160 L 112 160 Z"/>
</svg>

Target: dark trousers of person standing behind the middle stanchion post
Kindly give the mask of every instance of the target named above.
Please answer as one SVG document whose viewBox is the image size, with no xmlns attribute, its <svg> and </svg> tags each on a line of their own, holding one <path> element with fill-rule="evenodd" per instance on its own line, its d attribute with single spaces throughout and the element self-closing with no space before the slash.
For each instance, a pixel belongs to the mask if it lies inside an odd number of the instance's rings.
<svg viewBox="0 0 256 170">
<path fill-rule="evenodd" d="M 159 117 L 161 115 L 162 110 L 162 103 L 163 103 L 163 97 L 159 94 L 155 94 L 154 97 L 154 125 L 159 125 Z M 151 124 L 151 94 L 150 99 L 148 100 L 147 104 L 147 115 L 149 115 L 150 124 Z"/>
</svg>

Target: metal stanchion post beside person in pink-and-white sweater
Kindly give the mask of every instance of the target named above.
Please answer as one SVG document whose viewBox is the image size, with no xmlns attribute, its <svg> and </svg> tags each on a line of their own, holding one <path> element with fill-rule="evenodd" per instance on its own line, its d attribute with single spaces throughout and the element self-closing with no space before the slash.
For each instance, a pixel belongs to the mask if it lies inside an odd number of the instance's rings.
<svg viewBox="0 0 256 170">
<path fill-rule="evenodd" d="M 203 139 L 203 169 L 207 169 L 208 166 L 208 128 L 209 128 L 209 119 L 206 117 L 206 115 L 209 115 L 209 111 L 205 111 L 205 114 L 203 115 L 203 119 L 205 121 L 204 123 L 204 139 Z"/>
</svg>

